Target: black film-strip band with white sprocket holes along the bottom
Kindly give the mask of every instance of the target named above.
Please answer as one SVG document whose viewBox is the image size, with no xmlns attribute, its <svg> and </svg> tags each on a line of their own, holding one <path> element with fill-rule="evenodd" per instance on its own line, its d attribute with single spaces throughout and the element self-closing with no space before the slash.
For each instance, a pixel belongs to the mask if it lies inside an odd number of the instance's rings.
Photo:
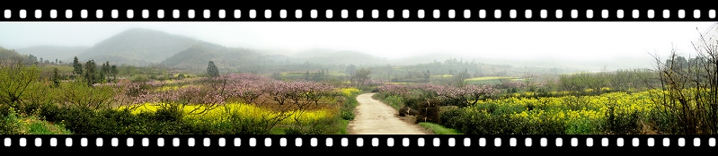
<svg viewBox="0 0 718 156">
<path fill-rule="evenodd" d="M 4 135 L 4 148 L 716 148 L 714 135 Z"/>
</svg>

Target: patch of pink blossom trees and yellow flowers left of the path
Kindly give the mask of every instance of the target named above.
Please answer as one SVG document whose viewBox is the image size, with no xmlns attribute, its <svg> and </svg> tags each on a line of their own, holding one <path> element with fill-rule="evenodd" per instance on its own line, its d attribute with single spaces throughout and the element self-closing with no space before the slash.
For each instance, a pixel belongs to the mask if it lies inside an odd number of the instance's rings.
<svg viewBox="0 0 718 156">
<path fill-rule="evenodd" d="M 182 82 L 184 81 L 184 82 Z M 199 123 L 229 122 L 234 117 L 261 122 L 267 131 L 277 125 L 300 125 L 339 115 L 336 107 L 309 109 L 332 101 L 342 92 L 325 82 L 282 82 L 255 74 L 225 74 L 173 82 L 116 83 L 123 92 L 120 109 L 187 118 Z M 329 102 L 332 103 L 332 102 Z M 173 113 L 174 112 L 174 113 Z"/>
</svg>

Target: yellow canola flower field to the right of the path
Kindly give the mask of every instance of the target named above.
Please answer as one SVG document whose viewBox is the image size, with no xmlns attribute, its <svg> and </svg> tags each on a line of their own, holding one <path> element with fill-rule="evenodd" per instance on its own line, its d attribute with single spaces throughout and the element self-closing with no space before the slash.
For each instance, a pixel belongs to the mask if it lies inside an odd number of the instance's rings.
<svg viewBox="0 0 718 156">
<path fill-rule="evenodd" d="M 696 94 L 696 91 L 689 89 L 681 92 L 692 95 Z M 707 93 L 707 90 L 700 92 Z M 653 111 L 668 108 L 654 100 L 669 93 L 670 91 L 651 90 L 634 93 L 617 91 L 593 96 L 508 97 L 478 100 L 474 105 L 465 108 L 465 112 L 473 117 L 508 116 L 534 123 L 557 120 L 565 123 L 567 134 L 600 134 L 603 133 L 601 124 L 605 123 L 611 109 L 616 117 L 632 113 L 638 114 L 639 117 L 649 117 Z M 696 100 L 690 102 L 691 105 L 696 105 Z"/>
</svg>

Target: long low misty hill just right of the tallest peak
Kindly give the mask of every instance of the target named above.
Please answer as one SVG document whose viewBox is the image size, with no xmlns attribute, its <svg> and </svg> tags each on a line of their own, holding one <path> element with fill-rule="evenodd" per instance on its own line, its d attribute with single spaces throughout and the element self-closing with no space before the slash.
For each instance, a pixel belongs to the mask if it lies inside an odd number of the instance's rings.
<svg viewBox="0 0 718 156">
<path fill-rule="evenodd" d="M 264 50 L 248 48 L 226 48 L 217 44 L 204 43 L 182 50 L 165 59 L 160 65 L 170 68 L 201 72 L 206 70 L 208 61 L 213 61 L 222 71 L 295 71 L 319 69 L 321 65 L 386 65 L 386 59 L 354 51 L 324 51 L 292 56 L 267 53 Z M 306 64 L 309 63 L 309 64 Z"/>
</svg>

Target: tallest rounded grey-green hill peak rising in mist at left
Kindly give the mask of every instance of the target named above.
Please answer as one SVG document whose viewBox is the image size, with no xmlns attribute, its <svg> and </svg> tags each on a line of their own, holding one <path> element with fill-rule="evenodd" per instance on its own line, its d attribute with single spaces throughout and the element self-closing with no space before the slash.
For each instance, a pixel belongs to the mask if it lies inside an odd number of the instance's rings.
<svg viewBox="0 0 718 156">
<path fill-rule="evenodd" d="M 164 59 L 202 42 L 160 30 L 134 28 L 102 40 L 77 55 L 77 58 L 82 61 L 110 61 L 119 65 L 159 64 Z"/>
</svg>

